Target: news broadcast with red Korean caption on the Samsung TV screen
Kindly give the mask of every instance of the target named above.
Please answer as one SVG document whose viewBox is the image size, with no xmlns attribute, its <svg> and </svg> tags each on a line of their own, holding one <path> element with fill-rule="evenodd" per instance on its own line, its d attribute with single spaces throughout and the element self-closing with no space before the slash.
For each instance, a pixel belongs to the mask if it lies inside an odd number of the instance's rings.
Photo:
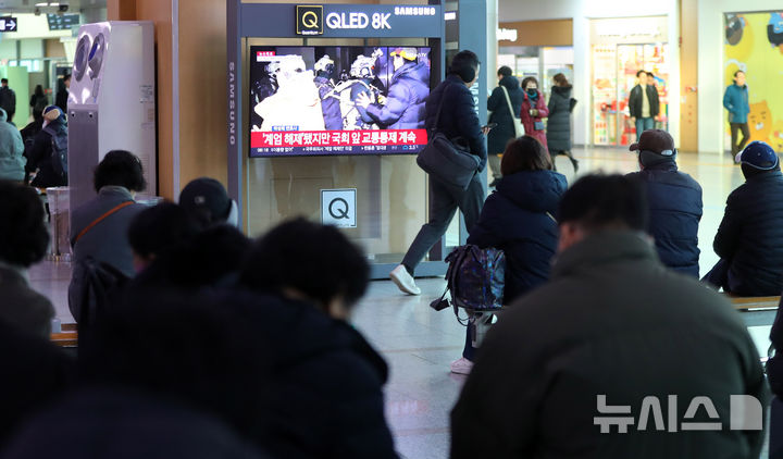
<svg viewBox="0 0 783 459">
<path fill-rule="evenodd" d="M 427 142 L 430 52 L 251 47 L 250 157 L 419 152 Z"/>
</svg>

